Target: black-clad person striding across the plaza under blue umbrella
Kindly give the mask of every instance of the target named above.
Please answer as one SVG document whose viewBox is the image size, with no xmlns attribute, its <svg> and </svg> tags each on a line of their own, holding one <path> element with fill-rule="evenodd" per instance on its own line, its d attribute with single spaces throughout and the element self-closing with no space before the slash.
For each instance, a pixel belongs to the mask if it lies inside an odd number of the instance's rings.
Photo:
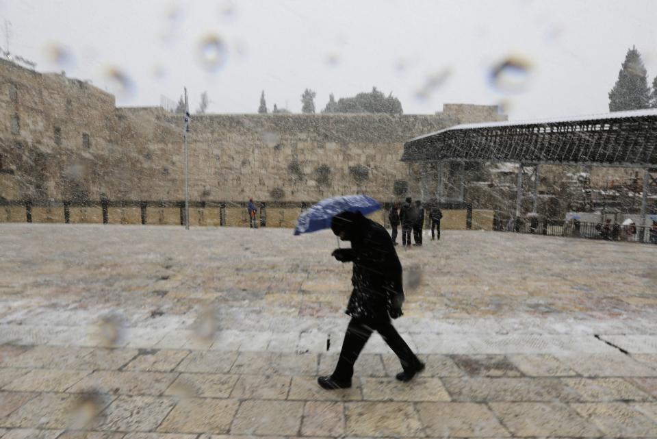
<svg viewBox="0 0 657 439">
<path fill-rule="evenodd" d="M 340 262 L 353 262 L 354 286 L 346 309 L 351 321 L 344 335 L 342 351 L 329 376 L 319 377 L 318 384 L 327 390 L 351 387 L 354 363 L 372 335 L 381 334 L 396 353 L 403 371 L 400 381 L 411 381 L 424 370 L 424 364 L 411 351 L 391 323 L 402 316 L 404 290 L 402 264 L 386 229 L 360 213 L 342 212 L 333 217 L 331 229 L 350 249 L 335 249 L 331 255 Z"/>
</svg>

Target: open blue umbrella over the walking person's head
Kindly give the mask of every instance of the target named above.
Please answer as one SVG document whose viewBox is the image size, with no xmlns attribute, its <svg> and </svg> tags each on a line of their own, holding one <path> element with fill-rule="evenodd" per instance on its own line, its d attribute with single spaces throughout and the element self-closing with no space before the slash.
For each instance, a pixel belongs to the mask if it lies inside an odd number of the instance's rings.
<svg viewBox="0 0 657 439">
<path fill-rule="evenodd" d="M 326 198 L 301 212 L 294 228 L 294 234 L 307 234 L 311 231 L 331 227 L 333 216 L 340 212 L 361 212 L 371 214 L 381 209 L 381 204 L 367 195 L 345 195 L 343 197 Z"/>
</svg>

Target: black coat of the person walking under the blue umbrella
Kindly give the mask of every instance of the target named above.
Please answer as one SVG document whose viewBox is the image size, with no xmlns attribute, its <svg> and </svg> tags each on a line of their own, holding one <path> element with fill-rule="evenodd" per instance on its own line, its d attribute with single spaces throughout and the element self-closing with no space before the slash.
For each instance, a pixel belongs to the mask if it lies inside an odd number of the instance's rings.
<svg viewBox="0 0 657 439">
<path fill-rule="evenodd" d="M 344 249 L 344 261 L 353 262 L 346 314 L 355 318 L 389 318 L 388 310 L 401 308 L 404 301 L 402 264 L 387 230 L 374 221 L 361 217 L 359 240 Z"/>
</svg>

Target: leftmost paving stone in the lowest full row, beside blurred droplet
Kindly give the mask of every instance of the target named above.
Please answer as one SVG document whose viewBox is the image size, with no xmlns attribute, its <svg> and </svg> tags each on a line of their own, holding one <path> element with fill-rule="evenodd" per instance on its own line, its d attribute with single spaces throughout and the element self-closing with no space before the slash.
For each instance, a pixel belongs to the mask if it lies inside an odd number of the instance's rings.
<svg viewBox="0 0 657 439">
<path fill-rule="evenodd" d="M 34 396 L 34 394 L 32 394 Z M 112 397 L 100 396 L 92 407 L 95 413 L 112 401 Z M 81 395 L 65 393 L 41 393 L 32 397 L 12 414 L 0 420 L 0 427 L 51 428 L 80 427 L 78 412 Z M 93 413 L 88 416 L 91 419 Z"/>
</svg>

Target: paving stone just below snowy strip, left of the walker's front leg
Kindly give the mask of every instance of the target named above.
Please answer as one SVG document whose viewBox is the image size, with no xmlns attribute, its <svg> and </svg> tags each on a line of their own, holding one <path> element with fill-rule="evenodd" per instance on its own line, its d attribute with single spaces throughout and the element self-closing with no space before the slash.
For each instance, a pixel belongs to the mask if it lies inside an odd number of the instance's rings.
<svg viewBox="0 0 657 439">
<path fill-rule="evenodd" d="M 313 353 L 240 352 L 231 373 L 253 375 L 317 375 Z"/>
</svg>

